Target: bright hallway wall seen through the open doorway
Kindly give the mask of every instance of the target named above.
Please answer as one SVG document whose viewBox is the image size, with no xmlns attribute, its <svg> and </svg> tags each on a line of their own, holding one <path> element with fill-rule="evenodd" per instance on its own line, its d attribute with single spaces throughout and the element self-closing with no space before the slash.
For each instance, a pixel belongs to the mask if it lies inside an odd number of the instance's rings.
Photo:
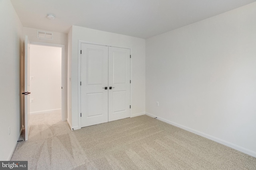
<svg viewBox="0 0 256 170">
<path fill-rule="evenodd" d="M 30 45 L 30 113 L 61 109 L 61 47 Z"/>
</svg>

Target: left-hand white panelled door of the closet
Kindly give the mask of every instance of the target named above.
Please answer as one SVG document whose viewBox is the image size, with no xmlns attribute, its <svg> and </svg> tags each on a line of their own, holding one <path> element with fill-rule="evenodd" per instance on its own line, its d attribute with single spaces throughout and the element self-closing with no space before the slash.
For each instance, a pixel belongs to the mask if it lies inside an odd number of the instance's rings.
<svg viewBox="0 0 256 170">
<path fill-rule="evenodd" d="M 81 127 L 86 127 L 108 122 L 108 47 L 82 43 L 81 50 Z"/>
</svg>

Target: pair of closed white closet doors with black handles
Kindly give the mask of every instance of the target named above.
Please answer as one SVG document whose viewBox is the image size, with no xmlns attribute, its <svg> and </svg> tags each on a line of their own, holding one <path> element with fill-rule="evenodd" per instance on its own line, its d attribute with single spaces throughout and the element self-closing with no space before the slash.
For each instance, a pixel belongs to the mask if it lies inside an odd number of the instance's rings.
<svg viewBox="0 0 256 170">
<path fill-rule="evenodd" d="M 81 127 L 130 117 L 130 49 L 81 50 Z"/>
</svg>

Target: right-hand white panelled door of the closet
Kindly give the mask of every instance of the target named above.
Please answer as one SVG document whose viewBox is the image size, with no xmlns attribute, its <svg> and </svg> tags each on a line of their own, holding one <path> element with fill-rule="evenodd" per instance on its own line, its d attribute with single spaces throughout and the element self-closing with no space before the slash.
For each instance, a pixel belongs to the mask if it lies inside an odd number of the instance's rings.
<svg viewBox="0 0 256 170">
<path fill-rule="evenodd" d="M 130 117 L 130 49 L 108 47 L 108 121 Z"/>
</svg>

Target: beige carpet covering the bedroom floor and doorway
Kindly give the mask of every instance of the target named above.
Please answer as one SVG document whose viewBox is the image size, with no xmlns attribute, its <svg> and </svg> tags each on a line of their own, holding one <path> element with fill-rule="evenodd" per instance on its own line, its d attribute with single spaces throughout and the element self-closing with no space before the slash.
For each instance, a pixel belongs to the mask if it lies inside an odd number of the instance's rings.
<svg viewBox="0 0 256 170">
<path fill-rule="evenodd" d="M 76 131 L 60 117 L 31 115 L 11 160 L 31 170 L 256 170 L 256 158 L 146 115 Z"/>
</svg>

